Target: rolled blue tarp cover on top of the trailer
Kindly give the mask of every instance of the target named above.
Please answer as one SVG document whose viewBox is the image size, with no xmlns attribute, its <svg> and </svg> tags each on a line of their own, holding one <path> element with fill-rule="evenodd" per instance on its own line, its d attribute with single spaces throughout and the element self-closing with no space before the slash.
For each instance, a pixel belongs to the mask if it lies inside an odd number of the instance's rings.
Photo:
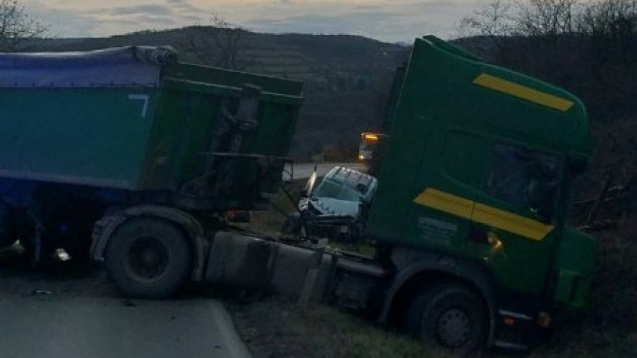
<svg viewBox="0 0 637 358">
<path fill-rule="evenodd" d="M 170 47 L 0 54 L 0 87 L 154 87 L 173 61 Z"/>
</svg>

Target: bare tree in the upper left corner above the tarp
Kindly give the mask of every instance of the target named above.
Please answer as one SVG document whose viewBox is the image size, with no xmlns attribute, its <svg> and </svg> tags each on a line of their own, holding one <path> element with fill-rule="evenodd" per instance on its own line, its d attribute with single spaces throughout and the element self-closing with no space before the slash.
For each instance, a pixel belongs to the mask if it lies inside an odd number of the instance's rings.
<svg viewBox="0 0 637 358">
<path fill-rule="evenodd" d="M 47 31 L 36 18 L 27 13 L 17 0 L 0 0 L 0 51 L 24 50 L 29 40 L 39 38 Z"/>
</svg>

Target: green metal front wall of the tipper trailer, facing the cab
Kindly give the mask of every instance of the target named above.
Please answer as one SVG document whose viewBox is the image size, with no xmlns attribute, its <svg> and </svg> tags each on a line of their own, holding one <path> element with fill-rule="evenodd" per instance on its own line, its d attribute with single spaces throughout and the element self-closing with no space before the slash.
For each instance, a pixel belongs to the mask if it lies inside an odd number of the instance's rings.
<svg viewBox="0 0 637 358">
<path fill-rule="evenodd" d="M 180 190 L 204 172 L 210 140 L 222 109 L 233 111 L 243 85 L 261 89 L 257 129 L 245 136 L 241 154 L 285 156 L 302 103 L 301 83 L 192 64 L 174 64 L 162 73 L 157 115 L 145 160 L 145 189 Z M 256 175 L 254 161 L 238 164 Z"/>
</svg>

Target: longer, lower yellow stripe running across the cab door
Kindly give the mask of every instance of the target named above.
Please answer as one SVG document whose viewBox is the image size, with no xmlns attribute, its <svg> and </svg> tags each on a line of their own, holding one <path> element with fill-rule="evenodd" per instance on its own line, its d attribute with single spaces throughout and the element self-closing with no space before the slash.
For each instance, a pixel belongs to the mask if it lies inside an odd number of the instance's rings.
<svg viewBox="0 0 637 358">
<path fill-rule="evenodd" d="M 466 218 L 490 227 L 495 227 L 509 233 L 524 236 L 525 238 L 541 241 L 554 226 L 543 224 L 537 220 L 523 217 L 464 199 L 463 197 L 448 194 L 433 188 L 427 188 L 420 193 L 413 202 L 436 210 Z"/>
</svg>

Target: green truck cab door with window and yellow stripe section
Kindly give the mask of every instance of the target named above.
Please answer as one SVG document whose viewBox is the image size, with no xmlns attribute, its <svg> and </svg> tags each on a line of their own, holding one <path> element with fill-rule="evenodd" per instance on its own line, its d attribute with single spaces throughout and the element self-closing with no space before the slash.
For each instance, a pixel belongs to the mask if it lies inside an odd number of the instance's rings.
<svg viewBox="0 0 637 358">
<path fill-rule="evenodd" d="M 558 155 L 497 143 L 475 196 L 467 254 L 485 262 L 503 287 L 541 296 L 554 250 L 561 187 Z"/>
</svg>

